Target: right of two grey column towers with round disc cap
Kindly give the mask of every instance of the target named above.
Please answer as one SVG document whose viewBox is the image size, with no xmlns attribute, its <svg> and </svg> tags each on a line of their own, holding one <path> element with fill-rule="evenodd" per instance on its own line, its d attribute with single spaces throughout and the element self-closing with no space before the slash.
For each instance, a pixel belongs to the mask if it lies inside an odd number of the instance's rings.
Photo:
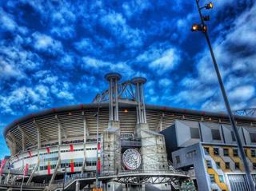
<svg viewBox="0 0 256 191">
<path fill-rule="evenodd" d="M 146 83 L 146 78 L 133 78 L 131 82 L 136 87 L 136 99 L 138 102 L 138 124 L 146 123 L 146 107 L 144 101 L 143 84 Z"/>
</svg>

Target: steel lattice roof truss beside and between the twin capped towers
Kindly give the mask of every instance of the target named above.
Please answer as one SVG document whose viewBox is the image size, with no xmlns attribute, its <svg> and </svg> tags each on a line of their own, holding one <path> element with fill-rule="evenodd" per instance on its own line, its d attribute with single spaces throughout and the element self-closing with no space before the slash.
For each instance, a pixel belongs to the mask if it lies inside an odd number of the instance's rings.
<svg viewBox="0 0 256 191">
<path fill-rule="evenodd" d="M 118 97 L 122 99 L 135 100 L 134 85 L 130 81 L 122 82 L 118 84 Z M 93 99 L 93 103 L 102 103 L 109 101 L 109 90 L 105 90 L 102 94 L 96 94 Z"/>
</svg>

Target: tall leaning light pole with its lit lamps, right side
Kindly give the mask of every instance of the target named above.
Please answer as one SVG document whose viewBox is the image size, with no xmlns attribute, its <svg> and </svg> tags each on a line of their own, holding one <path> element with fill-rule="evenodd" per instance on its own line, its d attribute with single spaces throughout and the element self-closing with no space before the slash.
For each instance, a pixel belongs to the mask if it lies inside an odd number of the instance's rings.
<svg viewBox="0 0 256 191">
<path fill-rule="evenodd" d="M 216 72 L 217 77 L 218 77 L 218 83 L 219 83 L 219 86 L 222 90 L 222 97 L 225 101 L 226 110 L 227 110 L 227 113 L 229 115 L 230 123 L 231 123 L 232 129 L 233 129 L 233 132 L 234 132 L 234 136 L 235 136 L 235 139 L 236 139 L 237 144 L 238 144 L 238 150 L 239 150 L 239 153 L 240 153 L 240 157 L 242 158 L 242 162 L 243 162 L 243 165 L 245 167 L 246 179 L 249 183 L 250 191 L 255 191 L 255 184 L 254 184 L 253 178 L 250 174 L 250 168 L 249 168 L 249 165 L 248 165 L 247 160 L 246 160 L 246 154 L 245 154 L 243 146 L 242 146 L 241 138 L 239 137 L 239 133 L 238 133 L 236 123 L 234 121 L 233 113 L 230 109 L 230 102 L 229 102 L 228 97 L 226 95 L 226 90 L 225 90 L 225 87 L 224 87 L 224 84 L 223 84 L 223 81 L 222 81 L 222 76 L 221 76 L 221 74 L 218 70 L 218 64 L 217 64 L 216 58 L 214 56 L 214 50 L 211 46 L 210 38 L 209 38 L 209 35 L 207 33 L 207 26 L 206 26 L 205 22 L 210 21 L 210 17 L 209 16 L 203 16 L 202 12 L 201 12 L 201 10 L 203 10 L 203 9 L 210 10 L 210 9 L 214 8 L 214 4 L 212 2 L 209 2 L 205 6 L 200 7 L 199 6 L 199 0 L 195 0 L 195 2 L 197 4 L 198 13 L 199 13 L 199 16 L 200 16 L 200 19 L 201 19 L 201 24 L 194 24 L 192 26 L 191 30 L 192 31 L 202 31 L 202 33 L 206 37 L 206 42 L 207 42 L 207 44 L 209 46 L 209 49 L 210 49 L 210 55 L 211 55 L 211 58 L 214 62 L 214 69 L 215 69 L 215 72 Z"/>
</svg>

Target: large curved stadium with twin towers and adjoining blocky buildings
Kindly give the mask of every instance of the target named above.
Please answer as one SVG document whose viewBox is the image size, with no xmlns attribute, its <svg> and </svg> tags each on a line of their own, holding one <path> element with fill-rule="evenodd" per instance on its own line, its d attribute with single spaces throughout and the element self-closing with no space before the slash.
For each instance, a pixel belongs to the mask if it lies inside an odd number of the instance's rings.
<svg viewBox="0 0 256 191">
<path fill-rule="evenodd" d="M 8 125 L 0 189 L 90 190 L 96 177 L 103 190 L 248 189 L 225 113 L 146 105 L 146 79 L 120 79 L 106 74 L 108 90 L 90 104 Z M 235 120 L 255 173 L 256 118 Z"/>
</svg>

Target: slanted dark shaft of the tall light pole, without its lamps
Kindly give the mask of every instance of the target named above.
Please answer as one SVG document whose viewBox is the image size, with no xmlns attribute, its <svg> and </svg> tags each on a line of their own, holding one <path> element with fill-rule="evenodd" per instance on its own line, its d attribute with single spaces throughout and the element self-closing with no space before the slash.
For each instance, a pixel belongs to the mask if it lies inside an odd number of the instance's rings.
<svg viewBox="0 0 256 191">
<path fill-rule="evenodd" d="M 199 0 L 196 0 L 196 3 L 197 3 L 198 12 L 199 12 L 199 15 L 200 15 L 200 18 L 201 18 L 202 25 L 204 26 L 205 22 L 204 22 L 204 19 L 202 17 L 201 8 L 199 6 Z M 238 144 L 238 150 L 239 150 L 239 153 L 240 153 L 240 157 L 242 158 L 242 162 L 243 162 L 243 165 L 245 167 L 246 179 L 249 183 L 250 191 L 255 191 L 255 185 L 254 185 L 253 177 L 250 174 L 250 168 L 249 168 L 249 165 L 248 165 L 247 160 L 246 160 L 246 154 L 245 154 L 243 146 L 242 146 L 242 141 L 239 137 L 239 133 L 238 133 L 236 123 L 234 121 L 233 113 L 230 109 L 230 102 L 228 100 L 228 97 L 226 96 L 226 90 L 225 90 L 225 87 L 224 87 L 224 84 L 223 84 L 223 81 L 222 81 L 222 76 L 221 76 L 221 74 L 218 70 L 218 64 L 217 64 L 215 56 L 214 56 L 214 51 L 213 51 L 213 48 L 212 48 L 211 43 L 210 43 L 210 38 L 209 38 L 209 35 L 208 35 L 207 31 L 205 31 L 203 34 L 205 34 L 206 42 L 207 42 L 207 44 L 209 46 L 209 49 L 210 49 L 210 55 L 211 55 L 211 58 L 214 62 L 214 69 L 215 69 L 215 72 L 216 72 L 217 77 L 218 77 L 219 86 L 222 90 L 222 97 L 225 101 L 226 110 L 227 110 L 227 113 L 229 115 L 230 123 L 231 123 L 232 129 L 233 129 L 233 132 L 234 132 L 234 136 L 235 136 L 235 139 L 236 139 L 237 144 Z"/>
</svg>

